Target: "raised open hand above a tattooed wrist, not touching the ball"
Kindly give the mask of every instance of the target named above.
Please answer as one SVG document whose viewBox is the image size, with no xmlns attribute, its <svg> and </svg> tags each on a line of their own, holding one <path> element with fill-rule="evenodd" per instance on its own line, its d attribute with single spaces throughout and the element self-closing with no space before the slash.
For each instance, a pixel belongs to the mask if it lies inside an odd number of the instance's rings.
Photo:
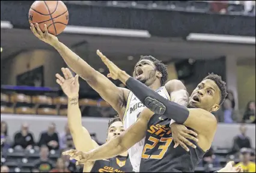
<svg viewBox="0 0 256 173">
<path fill-rule="evenodd" d="M 69 98 L 78 97 L 79 92 L 79 82 L 78 82 L 78 74 L 74 77 L 69 70 L 69 68 L 61 68 L 61 71 L 64 75 L 62 77 L 60 74 L 56 74 L 56 82 L 61 86 L 63 92 Z"/>
</svg>

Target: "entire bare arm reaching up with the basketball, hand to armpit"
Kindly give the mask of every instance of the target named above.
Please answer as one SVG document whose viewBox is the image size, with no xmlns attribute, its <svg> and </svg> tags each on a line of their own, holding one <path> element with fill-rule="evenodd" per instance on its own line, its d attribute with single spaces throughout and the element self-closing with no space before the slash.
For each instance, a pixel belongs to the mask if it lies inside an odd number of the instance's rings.
<svg viewBox="0 0 256 173">
<path fill-rule="evenodd" d="M 76 74 L 86 80 L 87 83 L 118 112 L 118 115 L 123 115 L 124 107 L 126 106 L 126 94 L 129 93 L 129 91 L 125 88 L 118 88 L 102 73 L 94 70 L 93 67 L 76 55 L 69 47 L 58 41 L 57 37 L 49 34 L 46 25 L 44 25 L 44 32 L 41 31 L 37 23 L 35 23 L 35 26 L 31 24 L 31 30 L 37 38 L 53 46 L 67 65 L 69 65 Z M 122 119 L 123 117 L 120 118 Z"/>
</svg>

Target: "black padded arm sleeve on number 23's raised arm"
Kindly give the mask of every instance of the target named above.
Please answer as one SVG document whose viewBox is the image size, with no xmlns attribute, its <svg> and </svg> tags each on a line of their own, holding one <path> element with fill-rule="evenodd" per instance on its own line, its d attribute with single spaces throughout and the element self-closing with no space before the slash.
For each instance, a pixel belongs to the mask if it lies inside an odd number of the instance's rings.
<svg viewBox="0 0 256 173">
<path fill-rule="evenodd" d="M 148 109 L 156 114 L 165 115 L 180 124 L 183 124 L 189 117 L 186 107 L 163 98 L 133 77 L 126 81 L 126 86 Z"/>
</svg>

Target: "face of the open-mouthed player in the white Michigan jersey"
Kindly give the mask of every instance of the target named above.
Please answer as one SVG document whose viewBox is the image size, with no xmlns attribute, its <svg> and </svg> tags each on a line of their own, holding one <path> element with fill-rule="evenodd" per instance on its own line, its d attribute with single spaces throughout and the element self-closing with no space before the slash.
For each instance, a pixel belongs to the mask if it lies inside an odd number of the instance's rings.
<svg viewBox="0 0 256 173">
<path fill-rule="evenodd" d="M 162 73 L 156 70 L 156 65 L 148 59 L 142 59 L 134 67 L 133 77 L 149 86 L 162 77 Z"/>
</svg>

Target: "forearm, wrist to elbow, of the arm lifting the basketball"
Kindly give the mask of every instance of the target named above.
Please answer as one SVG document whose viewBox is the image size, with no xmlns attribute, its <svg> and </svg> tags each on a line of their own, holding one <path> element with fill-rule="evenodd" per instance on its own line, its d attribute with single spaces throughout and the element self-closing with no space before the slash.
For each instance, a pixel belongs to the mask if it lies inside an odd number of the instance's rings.
<svg viewBox="0 0 256 173">
<path fill-rule="evenodd" d="M 59 52 L 66 64 L 84 80 L 90 80 L 97 72 L 93 67 L 87 64 L 87 62 L 60 41 L 56 44 L 52 44 L 52 46 Z"/>
</svg>

